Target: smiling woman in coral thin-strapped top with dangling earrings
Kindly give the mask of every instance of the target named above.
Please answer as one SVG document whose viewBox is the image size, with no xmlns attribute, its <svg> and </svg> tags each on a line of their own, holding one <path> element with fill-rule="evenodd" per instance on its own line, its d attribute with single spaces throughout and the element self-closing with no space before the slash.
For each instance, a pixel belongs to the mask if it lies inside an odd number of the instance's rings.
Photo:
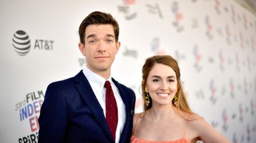
<svg viewBox="0 0 256 143">
<path fill-rule="evenodd" d="M 144 112 L 134 115 L 134 142 L 229 142 L 188 106 L 178 63 L 171 56 L 147 58 L 142 68 Z"/>
</svg>

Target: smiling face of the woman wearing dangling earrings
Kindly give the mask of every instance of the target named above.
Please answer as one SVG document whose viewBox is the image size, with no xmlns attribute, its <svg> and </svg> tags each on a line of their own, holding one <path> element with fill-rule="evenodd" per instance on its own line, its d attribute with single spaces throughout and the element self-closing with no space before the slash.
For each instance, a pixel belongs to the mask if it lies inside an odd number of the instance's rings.
<svg viewBox="0 0 256 143">
<path fill-rule="evenodd" d="M 169 105 L 178 90 L 176 73 L 165 64 L 156 63 L 147 77 L 146 88 L 153 105 Z"/>
</svg>

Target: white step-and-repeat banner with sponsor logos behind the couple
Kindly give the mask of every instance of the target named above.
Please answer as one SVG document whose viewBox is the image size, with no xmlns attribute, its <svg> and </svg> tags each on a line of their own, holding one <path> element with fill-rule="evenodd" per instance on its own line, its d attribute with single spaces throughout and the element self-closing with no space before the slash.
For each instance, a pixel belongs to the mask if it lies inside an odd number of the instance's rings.
<svg viewBox="0 0 256 143">
<path fill-rule="evenodd" d="M 0 1 L 0 142 L 36 143 L 49 83 L 85 66 L 78 27 L 95 10 L 120 25 L 112 68 L 137 96 L 152 55 L 172 55 L 194 112 L 231 142 L 256 142 L 256 17 L 233 0 Z"/>
</svg>

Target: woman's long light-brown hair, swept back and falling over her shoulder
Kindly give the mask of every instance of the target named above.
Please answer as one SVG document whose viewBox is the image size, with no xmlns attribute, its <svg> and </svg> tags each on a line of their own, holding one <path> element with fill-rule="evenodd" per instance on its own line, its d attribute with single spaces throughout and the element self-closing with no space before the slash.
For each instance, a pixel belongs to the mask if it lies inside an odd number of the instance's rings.
<svg viewBox="0 0 256 143">
<path fill-rule="evenodd" d="M 182 83 L 180 80 L 180 68 L 178 66 L 177 61 L 172 58 L 170 55 L 163 55 L 163 56 L 151 56 L 149 58 L 146 59 L 146 62 L 144 63 L 143 67 L 142 67 L 142 83 L 141 83 L 141 87 L 142 87 L 142 98 L 144 99 L 144 110 L 146 111 L 147 109 L 150 109 L 152 107 L 152 99 L 149 98 L 150 103 L 147 106 L 146 104 L 146 92 L 145 92 L 145 87 L 146 87 L 146 82 L 147 82 L 147 77 L 149 76 L 149 72 L 152 70 L 152 68 L 154 67 L 154 65 L 158 63 L 158 64 L 165 64 L 166 66 L 169 66 L 170 68 L 172 68 L 175 71 L 176 74 L 176 80 L 178 83 L 178 90 L 176 92 L 176 96 L 178 98 L 178 104 L 177 104 L 177 108 L 179 110 L 182 110 L 184 112 L 188 112 L 193 114 L 193 112 L 191 111 L 191 109 L 189 108 L 188 102 L 186 100 L 186 97 L 184 95 L 184 91 L 183 91 L 183 87 L 182 87 Z M 174 104 L 174 98 L 173 98 L 173 104 Z"/>
</svg>

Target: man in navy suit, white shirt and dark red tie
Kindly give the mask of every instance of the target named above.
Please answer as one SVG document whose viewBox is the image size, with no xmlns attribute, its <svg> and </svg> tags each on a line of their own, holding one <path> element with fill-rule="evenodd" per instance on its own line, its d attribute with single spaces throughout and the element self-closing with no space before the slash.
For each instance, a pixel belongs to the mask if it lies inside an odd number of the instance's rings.
<svg viewBox="0 0 256 143">
<path fill-rule="evenodd" d="M 110 14 L 93 12 L 82 21 L 79 34 L 85 69 L 47 87 L 38 142 L 130 142 L 135 94 L 110 74 L 120 48 L 118 23 Z M 111 87 L 105 88 L 107 80 Z M 113 107 L 117 109 L 109 109 Z"/>
</svg>

